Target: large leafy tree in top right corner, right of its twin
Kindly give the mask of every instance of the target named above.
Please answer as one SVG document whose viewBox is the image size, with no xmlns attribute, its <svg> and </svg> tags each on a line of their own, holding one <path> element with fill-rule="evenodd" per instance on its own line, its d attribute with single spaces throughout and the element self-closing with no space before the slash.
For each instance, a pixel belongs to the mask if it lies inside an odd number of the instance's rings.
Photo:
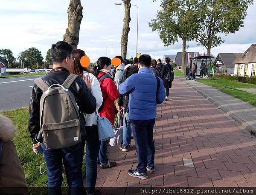
<svg viewBox="0 0 256 195">
<path fill-rule="evenodd" d="M 200 28 L 195 38 L 207 48 L 207 56 L 211 48 L 224 42 L 220 33 L 235 33 L 244 26 L 247 8 L 252 3 L 253 0 L 198 0 Z"/>
</svg>

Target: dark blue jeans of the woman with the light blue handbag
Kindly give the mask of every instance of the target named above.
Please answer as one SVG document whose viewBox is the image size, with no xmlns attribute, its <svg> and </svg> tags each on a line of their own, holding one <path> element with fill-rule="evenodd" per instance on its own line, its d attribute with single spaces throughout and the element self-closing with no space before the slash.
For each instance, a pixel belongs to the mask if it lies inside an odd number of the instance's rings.
<svg viewBox="0 0 256 195">
<path fill-rule="evenodd" d="M 84 144 L 86 140 L 86 155 L 85 155 L 85 167 L 86 167 L 85 177 L 86 177 L 86 184 L 87 184 L 86 191 L 87 191 L 87 194 L 93 194 L 95 191 L 95 185 L 96 185 L 96 179 L 97 179 L 97 157 L 99 154 L 100 141 L 98 136 L 97 125 L 85 127 L 85 130 L 86 130 L 87 136 L 82 137 L 82 143 L 83 143 L 83 149 L 84 149 Z"/>
</svg>

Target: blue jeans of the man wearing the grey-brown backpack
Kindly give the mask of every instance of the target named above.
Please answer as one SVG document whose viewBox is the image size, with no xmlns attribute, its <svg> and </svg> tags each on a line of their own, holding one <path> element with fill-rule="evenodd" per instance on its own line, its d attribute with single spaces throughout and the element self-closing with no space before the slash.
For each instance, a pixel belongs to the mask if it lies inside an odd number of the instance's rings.
<svg viewBox="0 0 256 195">
<path fill-rule="evenodd" d="M 48 193 L 49 195 L 61 194 L 62 184 L 62 161 L 65 167 L 67 184 L 70 195 L 82 193 L 82 143 L 62 149 L 49 149 L 44 143 L 41 144 L 44 151 L 44 158 L 48 172 Z"/>
</svg>

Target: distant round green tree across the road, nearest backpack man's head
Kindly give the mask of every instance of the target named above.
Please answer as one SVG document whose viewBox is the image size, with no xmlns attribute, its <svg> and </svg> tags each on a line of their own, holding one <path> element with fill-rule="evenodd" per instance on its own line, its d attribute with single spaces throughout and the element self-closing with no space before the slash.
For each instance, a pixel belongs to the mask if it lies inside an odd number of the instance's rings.
<svg viewBox="0 0 256 195">
<path fill-rule="evenodd" d="M 41 68 L 43 65 L 43 57 L 41 51 L 36 48 L 29 48 L 22 51 L 18 56 L 18 60 L 24 62 L 24 68 Z"/>
</svg>

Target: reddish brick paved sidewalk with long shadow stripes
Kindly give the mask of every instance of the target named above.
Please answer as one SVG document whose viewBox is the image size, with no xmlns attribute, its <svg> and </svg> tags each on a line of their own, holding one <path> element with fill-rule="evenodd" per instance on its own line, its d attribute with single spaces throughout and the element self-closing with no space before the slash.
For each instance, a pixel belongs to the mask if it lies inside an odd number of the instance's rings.
<svg viewBox="0 0 256 195">
<path fill-rule="evenodd" d="M 147 180 L 128 175 L 137 166 L 128 153 L 108 146 L 111 169 L 100 169 L 97 187 L 255 187 L 256 141 L 207 99 L 175 80 L 171 98 L 157 107 L 155 169 Z M 104 191 L 104 189 L 102 189 Z M 119 192 L 122 194 L 122 192 Z"/>
</svg>

